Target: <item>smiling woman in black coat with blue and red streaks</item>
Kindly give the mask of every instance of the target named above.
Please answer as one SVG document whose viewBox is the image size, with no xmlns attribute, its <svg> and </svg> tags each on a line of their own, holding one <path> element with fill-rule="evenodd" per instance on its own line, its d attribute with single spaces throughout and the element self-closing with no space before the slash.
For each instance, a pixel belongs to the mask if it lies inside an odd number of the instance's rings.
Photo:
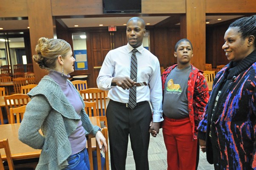
<svg viewBox="0 0 256 170">
<path fill-rule="evenodd" d="M 216 170 L 256 169 L 256 15 L 231 23 L 222 49 L 230 63 L 216 74 L 199 144 Z"/>
</svg>

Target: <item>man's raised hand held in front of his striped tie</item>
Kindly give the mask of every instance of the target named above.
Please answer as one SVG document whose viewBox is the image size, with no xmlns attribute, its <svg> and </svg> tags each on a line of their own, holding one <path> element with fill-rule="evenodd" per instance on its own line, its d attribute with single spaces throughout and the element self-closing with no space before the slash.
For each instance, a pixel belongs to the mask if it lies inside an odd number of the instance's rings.
<svg viewBox="0 0 256 170">
<path fill-rule="evenodd" d="M 122 89 L 129 89 L 135 85 L 136 82 L 132 81 L 129 77 L 114 77 L 112 79 L 111 85 L 117 85 Z"/>
</svg>

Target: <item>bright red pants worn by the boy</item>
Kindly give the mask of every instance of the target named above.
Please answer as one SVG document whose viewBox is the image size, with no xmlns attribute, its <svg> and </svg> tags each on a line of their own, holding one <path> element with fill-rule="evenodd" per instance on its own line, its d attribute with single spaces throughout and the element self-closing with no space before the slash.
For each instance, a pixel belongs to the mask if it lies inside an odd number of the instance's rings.
<svg viewBox="0 0 256 170">
<path fill-rule="evenodd" d="M 189 118 L 169 119 L 162 123 L 168 170 L 195 170 L 197 140 L 193 139 Z"/>
</svg>

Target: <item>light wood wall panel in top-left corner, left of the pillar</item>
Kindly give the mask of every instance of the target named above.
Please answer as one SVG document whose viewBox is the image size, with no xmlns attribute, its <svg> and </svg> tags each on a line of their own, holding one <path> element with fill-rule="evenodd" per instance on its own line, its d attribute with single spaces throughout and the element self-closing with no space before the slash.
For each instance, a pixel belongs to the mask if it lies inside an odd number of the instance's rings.
<svg viewBox="0 0 256 170">
<path fill-rule="evenodd" d="M 0 17 L 28 17 L 27 0 L 1 0 Z"/>
</svg>

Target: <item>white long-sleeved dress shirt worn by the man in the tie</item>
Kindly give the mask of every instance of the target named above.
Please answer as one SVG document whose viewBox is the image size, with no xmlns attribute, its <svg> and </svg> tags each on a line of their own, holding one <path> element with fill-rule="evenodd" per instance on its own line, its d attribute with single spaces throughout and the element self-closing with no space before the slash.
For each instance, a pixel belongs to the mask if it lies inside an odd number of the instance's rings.
<svg viewBox="0 0 256 170">
<path fill-rule="evenodd" d="M 113 77 L 130 77 L 133 49 L 127 44 L 109 51 L 97 78 L 98 88 L 109 90 L 108 97 L 116 102 L 128 103 L 129 100 L 129 90 L 111 86 L 111 81 Z M 162 81 L 159 60 L 142 45 L 137 50 L 137 82 L 146 82 L 150 85 L 150 88 L 148 85 L 137 87 L 137 103 L 150 101 L 153 109 L 153 122 L 161 122 L 163 121 Z"/>
</svg>

